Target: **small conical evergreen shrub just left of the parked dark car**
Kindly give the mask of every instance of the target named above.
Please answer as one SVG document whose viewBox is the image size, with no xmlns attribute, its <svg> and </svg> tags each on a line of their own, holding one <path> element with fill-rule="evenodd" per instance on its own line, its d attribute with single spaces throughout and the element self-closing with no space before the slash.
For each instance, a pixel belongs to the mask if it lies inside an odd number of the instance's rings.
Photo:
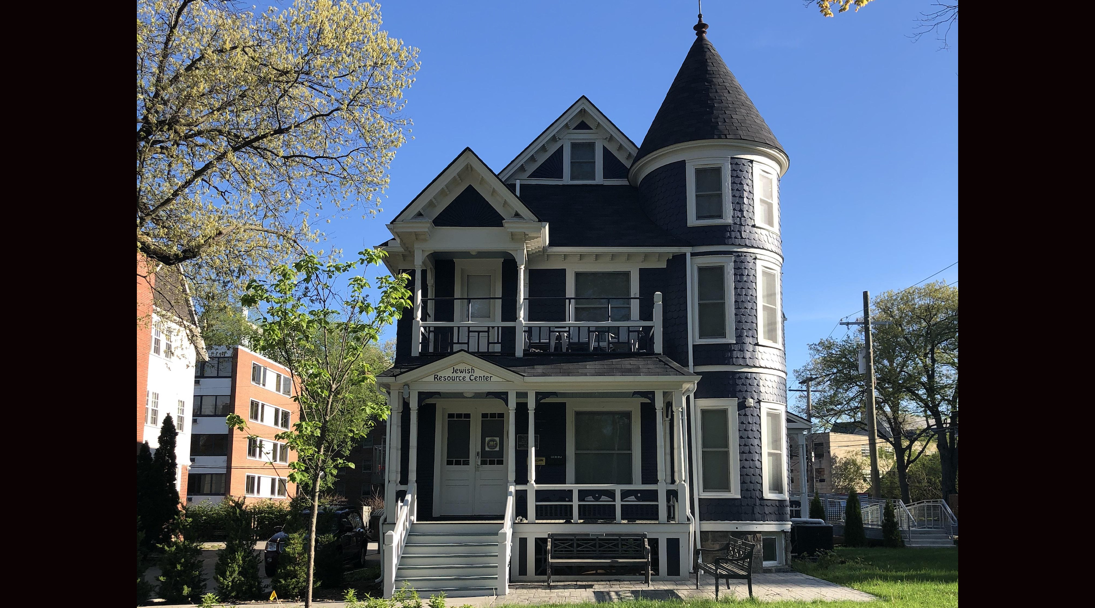
<svg viewBox="0 0 1095 608">
<path fill-rule="evenodd" d="M 214 578 L 217 593 L 226 600 L 262 599 L 263 582 L 258 575 L 255 539 L 251 530 L 251 514 L 243 501 L 227 496 L 224 525 L 228 538 L 224 548 L 217 551 Z"/>
</svg>

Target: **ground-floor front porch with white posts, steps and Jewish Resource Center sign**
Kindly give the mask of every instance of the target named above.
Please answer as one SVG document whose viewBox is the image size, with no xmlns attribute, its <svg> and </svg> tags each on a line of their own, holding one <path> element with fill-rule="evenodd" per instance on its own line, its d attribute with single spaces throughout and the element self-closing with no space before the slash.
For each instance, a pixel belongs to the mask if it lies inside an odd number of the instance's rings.
<svg viewBox="0 0 1095 608">
<path fill-rule="evenodd" d="M 696 376 L 630 353 L 414 359 L 379 378 L 392 407 L 385 595 L 403 581 L 505 595 L 543 580 L 550 533 L 642 531 L 656 580 L 688 576 L 683 404 Z"/>
</svg>

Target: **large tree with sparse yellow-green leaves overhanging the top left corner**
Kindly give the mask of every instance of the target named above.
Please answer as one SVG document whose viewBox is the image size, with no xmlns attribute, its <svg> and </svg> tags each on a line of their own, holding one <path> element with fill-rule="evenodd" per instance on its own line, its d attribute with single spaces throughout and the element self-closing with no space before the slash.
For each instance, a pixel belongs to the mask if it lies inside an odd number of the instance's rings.
<svg viewBox="0 0 1095 608">
<path fill-rule="evenodd" d="M 138 252 L 188 262 L 200 308 L 307 253 L 319 224 L 374 214 L 417 52 L 376 3 L 139 0 Z"/>
</svg>

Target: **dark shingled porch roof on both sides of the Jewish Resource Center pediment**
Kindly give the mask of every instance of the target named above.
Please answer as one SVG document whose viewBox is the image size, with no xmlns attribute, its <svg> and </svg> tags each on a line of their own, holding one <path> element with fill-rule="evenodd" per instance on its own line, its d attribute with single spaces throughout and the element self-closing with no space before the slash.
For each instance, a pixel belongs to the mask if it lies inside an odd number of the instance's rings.
<svg viewBox="0 0 1095 608">
<path fill-rule="evenodd" d="M 523 187 L 521 188 L 525 189 Z M 408 356 L 381 376 L 397 376 L 451 355 Z M 557 354 L 530 356 L 479 355 L 523 376 L 690 376 L 691 372 L 662 354 Z"/>
</svg>

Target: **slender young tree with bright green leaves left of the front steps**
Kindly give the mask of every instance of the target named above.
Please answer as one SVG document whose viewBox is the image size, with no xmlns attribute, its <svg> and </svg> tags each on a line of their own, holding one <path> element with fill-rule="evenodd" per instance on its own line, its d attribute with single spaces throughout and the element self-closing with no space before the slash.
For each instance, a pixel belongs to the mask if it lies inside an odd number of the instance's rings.
<svg viewBox="0 0 1095 608">
<path fill-rule="evenodd" d="M 360 390 L 373 384 L 379 372 L 369 365 L 367 347 L 411 305 L 406 274 L 379 277 L 374 302 L 364 276 L 346 277 L 358 266 L 380 264 L 385 253 L 365 249 L 359 255 L 348 262 L 321 262 L 308 255 L 291 267 L 278 266 L 269 280 L 250 281 L 242 297 L 244 306 L 261 312 L 255 347 L 289 369 L 292 398 L 300 406 L 299 421 L 276 439 L 297 453 L 297 460 L 289 464 L 289 480 L 311 494 L 306 608 L 311 606 L 315 578 L 315 524 L 324 478 L 330 484 L 339 467 L 353 468 L 345 456 L 377 420 L 388 416 L 387 402 L 369 399 Z M 348 284 L 345 295 L 336 287 L 343 280 Z M 237 429 L 246 426 L 235 414 L 228 422 Z"/>
</svg>

